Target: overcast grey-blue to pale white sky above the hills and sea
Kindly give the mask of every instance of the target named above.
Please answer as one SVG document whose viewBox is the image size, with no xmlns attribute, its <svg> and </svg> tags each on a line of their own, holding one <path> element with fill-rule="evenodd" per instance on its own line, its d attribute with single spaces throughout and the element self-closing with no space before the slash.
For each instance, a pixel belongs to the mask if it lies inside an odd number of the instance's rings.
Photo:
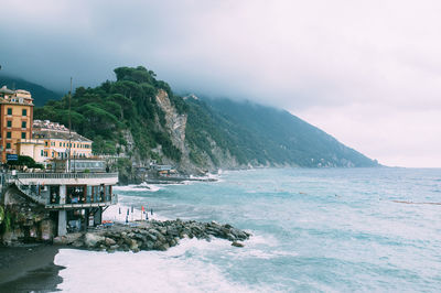
<svg viewBox="0 0 441 293">
<path fill-rule="evenodd" d="M 0 73 L 55 90 L 142 65 L 283 108 L 381 164 L 441 167 L 441 1 L 2 0 Z"/>
</svg>

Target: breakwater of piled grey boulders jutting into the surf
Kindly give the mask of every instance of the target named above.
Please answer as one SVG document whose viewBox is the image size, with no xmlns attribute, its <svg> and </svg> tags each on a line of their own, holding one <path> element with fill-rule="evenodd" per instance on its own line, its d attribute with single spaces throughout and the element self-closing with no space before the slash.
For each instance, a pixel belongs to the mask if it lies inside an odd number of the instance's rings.
<svg viewBox="0 0 441 293">
<path fill-rule="evenodd" d="M 142 221 L 138 223 L 136 227 L 116 224 L 112 227 L 95 231 L 57 237 L 54 239 L 54 243 L 107 252 L 139 252 L 140 250 L 164 251 L 176 246 L 183 238 L 209 241 L 212 237 L 216 237 L 232 241 L 232 246 L 244 247 L 240 241 L 249 239 L 250 236 L 251 234 L 236 229 L 228 224 L 219 225 L 215 221 L 200 223 L 176 219 Z"/>
</svg>

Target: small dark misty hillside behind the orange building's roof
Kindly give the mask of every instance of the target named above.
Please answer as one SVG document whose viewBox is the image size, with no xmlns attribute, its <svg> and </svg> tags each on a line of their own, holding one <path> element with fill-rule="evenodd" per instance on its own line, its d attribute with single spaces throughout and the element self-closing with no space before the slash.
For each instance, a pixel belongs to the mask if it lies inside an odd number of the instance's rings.
<svg viewBox="0 0 441 293">
<path fill-rule="evenodd" d="M 47 100 L 56 100 L 62 97 L 61 94 L 52 91 L 37 84 L 6 75 L 0 75 L 0 86 L 7 86 L 8 88 L 12 89 L 25 89 L 31 91 L 35 106 L 44 106 Z"/>
</svg>

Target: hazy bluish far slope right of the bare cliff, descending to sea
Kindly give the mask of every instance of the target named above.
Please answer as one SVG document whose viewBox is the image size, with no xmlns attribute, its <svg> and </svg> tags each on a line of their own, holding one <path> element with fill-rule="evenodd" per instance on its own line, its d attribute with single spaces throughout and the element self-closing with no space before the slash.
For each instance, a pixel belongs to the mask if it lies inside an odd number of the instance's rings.
<svg viewBox="0 0 441 293">
<path fill-rule="evenodd" d="M 228 99 L 189 98 L 189 126 L 197 129 L 193 144 L 208 145 L 207 137 L 228 148 L 240 164 L 377 166 L 322 130 L 288 111 Z M 204 133 L 205 131 L 209 132 Z M 209 148 L 206 149 L 209 151 Z"/>
</svg>

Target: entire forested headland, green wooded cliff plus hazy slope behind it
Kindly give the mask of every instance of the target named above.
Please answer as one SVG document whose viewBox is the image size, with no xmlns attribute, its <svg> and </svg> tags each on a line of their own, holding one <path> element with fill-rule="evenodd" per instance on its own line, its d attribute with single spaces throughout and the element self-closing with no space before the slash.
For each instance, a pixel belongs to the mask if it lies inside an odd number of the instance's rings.
<svg viewBox="0 0 441 293">
<path fill-rule="evenodd" d="M 95 153 L 120 165 L 170 163 L 197 173 L 217 167 L 376 166 L 377 163 L 287 111 L 225 99 L 182 98 L 142 66 L 115 69 L 115 82 L 78 87 L 72 128 Z M 68 124 L 67 96 L 35 108 L 35 119 Z"/>
</svg>

